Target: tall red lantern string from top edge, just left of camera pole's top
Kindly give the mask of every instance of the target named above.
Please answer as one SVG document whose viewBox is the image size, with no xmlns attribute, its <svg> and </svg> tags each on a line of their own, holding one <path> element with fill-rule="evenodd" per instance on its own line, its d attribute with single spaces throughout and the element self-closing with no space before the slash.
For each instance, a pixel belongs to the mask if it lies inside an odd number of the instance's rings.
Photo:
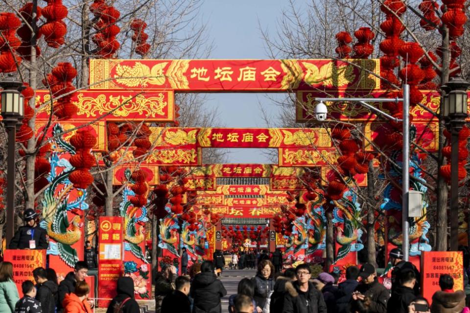
<svg viewBox="0 0 470 313">
<path fill-rule="evenodd" d="M 386 0 L 380 10 L 386 15 L 385 21 L 380 24 L 380 29 L 385 33 L 385 39 L 379 45 L 385 54 L 380 58 L 380 76 L 383 77 L 382 88 L 387 89 L 400 84 L 394 68 L 400 65 L 398 55 L 400 46 L 403 45 L 400 34 L 405 27 L 399 17 L 406 11 L 406 6 L 402 1 Z"/>
</svg>

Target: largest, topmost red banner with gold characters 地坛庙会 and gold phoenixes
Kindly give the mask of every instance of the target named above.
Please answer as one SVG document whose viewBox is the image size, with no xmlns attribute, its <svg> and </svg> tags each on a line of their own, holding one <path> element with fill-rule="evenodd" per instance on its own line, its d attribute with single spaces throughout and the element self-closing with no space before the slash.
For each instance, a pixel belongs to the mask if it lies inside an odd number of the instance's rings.
<svg viewBox="0 0 470 313">
<path fill-rule="evenodd" d="M 375 59 L 90 60 L 91 89 L 180 92 L 374 90 Z"/>
</svg>

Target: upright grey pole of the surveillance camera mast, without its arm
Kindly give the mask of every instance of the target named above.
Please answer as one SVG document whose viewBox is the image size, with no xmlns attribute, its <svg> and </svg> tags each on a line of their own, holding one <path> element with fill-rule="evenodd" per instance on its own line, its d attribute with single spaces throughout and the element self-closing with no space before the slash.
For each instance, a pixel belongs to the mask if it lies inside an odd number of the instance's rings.
<svg viewBox="0 0 470 313">
<path fill-rule="evenodd" d="M 410 252 L 408 223 L 408 190 L 410 189 L 410 86 L 403 85 L 403 156 L 402 156 L 402 234 L 403 260 L 408 261 Z"/>
</svg>

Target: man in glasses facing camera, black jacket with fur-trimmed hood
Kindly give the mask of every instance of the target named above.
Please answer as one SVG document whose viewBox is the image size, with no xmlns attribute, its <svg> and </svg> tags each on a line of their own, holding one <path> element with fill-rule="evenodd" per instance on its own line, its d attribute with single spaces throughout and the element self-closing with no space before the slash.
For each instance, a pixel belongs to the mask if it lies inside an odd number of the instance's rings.
<svg viewBox="0 0 470 313">
<path fill-rule="evenodd" d="M 323 295 L 316 290 L 310 279 L 310 267 L 300 264 L 296 269 L 297 281 L 292 285 L 297 295 L 287 293 L 284 298 L 283 313 L 327 313 Z"/>
</svg>

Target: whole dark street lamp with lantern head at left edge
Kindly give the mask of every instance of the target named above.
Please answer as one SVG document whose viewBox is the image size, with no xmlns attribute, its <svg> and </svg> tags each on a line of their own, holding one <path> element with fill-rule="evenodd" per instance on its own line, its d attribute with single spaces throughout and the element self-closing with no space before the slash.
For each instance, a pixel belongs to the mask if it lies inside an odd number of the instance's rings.
<svg viewBox="0 0 470 313">
<path fill-rule="evenodd" d="M 15 230 L 15 141 L 16 126 L 23 119 L 24 97 L 21 90 L 23 83 L 16 81 L 12 73 L 0 81 L 1 116 L 8 132 L 7 178 L 6 178 L 6 242 L 9 243 Z"/>
</svg>

